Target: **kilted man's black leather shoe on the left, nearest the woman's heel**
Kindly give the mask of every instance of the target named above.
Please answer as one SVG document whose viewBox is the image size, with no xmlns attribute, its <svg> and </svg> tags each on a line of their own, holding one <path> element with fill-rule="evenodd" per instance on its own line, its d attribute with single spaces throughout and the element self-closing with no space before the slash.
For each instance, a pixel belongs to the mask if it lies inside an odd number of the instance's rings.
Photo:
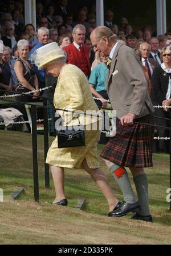
<svg viewBox="0 0 171 256">
<path fill-rule="evenodd" d="M 141 206 L 139 201 L 136 203 L 127 203 L 125 201 L 121 201 L 117 209 L 108 213 L 108 217 L 122 217 L 124 215 L 127 215 L 127 213 L 136 213 L 140 210 Z"/>
</svg>

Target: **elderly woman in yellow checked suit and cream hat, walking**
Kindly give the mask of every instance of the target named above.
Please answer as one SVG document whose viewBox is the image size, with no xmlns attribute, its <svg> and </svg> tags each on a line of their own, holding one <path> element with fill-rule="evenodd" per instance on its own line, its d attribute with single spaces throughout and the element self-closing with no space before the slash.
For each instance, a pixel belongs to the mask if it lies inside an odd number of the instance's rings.
<svg viewBox="0 0 171 256">
<path fill-rule="evenodd" d="M 92 98 L 88 81 L 82 70 L 75 65 L 66 64 L 66 55 L 57 43 L 49 43 L 36 50 L 34 55 L 35 65 L 45 68 L 47 73 L 58 77 L 54 94 L 54 106 L 58 109 L 84 111 L 98 111 Z M 97 118 L 90 116 L 72 117 L 72 113 L 60 111 L 64 125 L 87 125 L 98 122 Z M 56 197 L 53 205 L 67 205 L 64 194 L 64 167 L 85 169 L 99 186 L 101 192 L 108 201 L 109 211 L 117 207 L 118 200 L 113 194 L 106 175 L 99 168 L 97 157 L 97 142 L 100 138 L 100 130 L 85 130 L 86 146 L 72 148 L 58 148 L 58 136 L 48 150 L 46 163 L 50 165 L 54 181 Z"/>
</svg>

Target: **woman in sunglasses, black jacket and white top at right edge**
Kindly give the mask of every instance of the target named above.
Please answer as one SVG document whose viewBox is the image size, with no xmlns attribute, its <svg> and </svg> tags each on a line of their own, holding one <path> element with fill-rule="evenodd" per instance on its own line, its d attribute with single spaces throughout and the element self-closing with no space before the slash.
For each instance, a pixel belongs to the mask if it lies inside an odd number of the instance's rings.
<svg viewBox="0 0 171 256">
<path fill-rule="evenodd" d="M 152 76 L 152 100 L 153 105 L 163 106 L 155 108 L 155 116 L 171 118 L 171 110 L 165 106 L 171 105 L 170 84 L 171 84 L 171 48 L 164 47 L 161 51 L 161 65 L 157 65 Z M 171 127 L 171 123 L 166 119 L 155 118 L 156 125 Z M 168 131 L 164 128 L 157 128 L 159 137 L 168 137 Z M 165 141 L 158 141 L 158 150 L 169 152 L 169 145 Z"/>
</svg>

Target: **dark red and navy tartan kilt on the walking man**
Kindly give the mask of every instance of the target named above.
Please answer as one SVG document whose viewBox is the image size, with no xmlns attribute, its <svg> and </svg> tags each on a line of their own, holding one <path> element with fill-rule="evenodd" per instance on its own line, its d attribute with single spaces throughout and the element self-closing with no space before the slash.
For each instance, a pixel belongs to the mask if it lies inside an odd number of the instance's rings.
<svg viewBox="0 0 171 256">
<path fill-rule="evenodd" d="M 153 114 L 135 119 L 135 122 L 154 124 Z M 152 126 L 134 123 L 132 126 L 121 125 L 117 121 L 115 137 L 109 139 L 101 158 L 126 167 L 150 167 L 152 162 Z"/>
</svg>

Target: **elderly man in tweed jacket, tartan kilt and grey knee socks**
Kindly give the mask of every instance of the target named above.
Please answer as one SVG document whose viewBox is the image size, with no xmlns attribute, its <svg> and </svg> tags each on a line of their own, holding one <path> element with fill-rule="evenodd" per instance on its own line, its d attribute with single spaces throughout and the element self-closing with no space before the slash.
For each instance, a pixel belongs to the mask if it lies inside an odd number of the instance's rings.
<svg viewBox="0 0 171 256">
<path fill-rule="evenodd" d="M 140 124 L 154 122 L 145 74 L 135 51 L 117 42 L 108 27 L 96 27 L 91 33 L 91 42 L 95 51 L 112 59 L 106 87 L 112 108 L 116 110 L 117 132 L 101 157 L 119 184 L 124 201 L 117 203 L 108 216 L 121 217 L 132 211 L 136 212 L 132 219 L 152 222 L 144 172 L 144 167 L 152 166 L 152 129 Z M 139 201 L 124 166 L 132 172 Z"/>
</svg>

